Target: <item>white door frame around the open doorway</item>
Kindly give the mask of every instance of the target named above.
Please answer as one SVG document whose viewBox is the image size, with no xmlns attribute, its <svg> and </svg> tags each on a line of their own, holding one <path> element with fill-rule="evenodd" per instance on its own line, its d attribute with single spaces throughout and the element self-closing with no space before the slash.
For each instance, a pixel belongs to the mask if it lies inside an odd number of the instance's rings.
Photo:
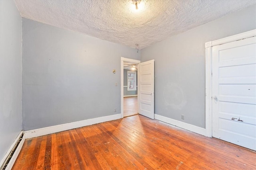
<svg viewBox="0 0 256 170">
<path fill-rule="evenodd" d="M 124 62 L 139 64 L 140 60 L 121 57 L 121 118 L 124 117 Z"/>
</svg>

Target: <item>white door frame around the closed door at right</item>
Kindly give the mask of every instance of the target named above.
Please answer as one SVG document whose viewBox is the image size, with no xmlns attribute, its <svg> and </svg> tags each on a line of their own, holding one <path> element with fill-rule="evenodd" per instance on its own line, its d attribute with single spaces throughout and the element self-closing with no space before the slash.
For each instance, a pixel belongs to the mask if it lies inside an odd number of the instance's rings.
<svg viewBox="0 0 256 170">
<path fill-rule="evenodd" d="M 254 36 L 256 36 L 256 29 L 205 43 L 205 129 L 207 137 L 212 137 L 212 47 Z"/>
</svg>

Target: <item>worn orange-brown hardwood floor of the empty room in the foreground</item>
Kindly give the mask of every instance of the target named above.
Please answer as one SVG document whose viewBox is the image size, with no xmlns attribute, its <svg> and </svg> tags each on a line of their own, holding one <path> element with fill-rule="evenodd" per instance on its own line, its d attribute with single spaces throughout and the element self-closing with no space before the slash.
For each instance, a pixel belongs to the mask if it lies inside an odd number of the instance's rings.
<svg viewBox="0 0 256 170">
<path fill-rule="evenodd" d="M 13 170 L 255 170 L 256 153 L 134 115 L 26 139 Z"/>
</svg>

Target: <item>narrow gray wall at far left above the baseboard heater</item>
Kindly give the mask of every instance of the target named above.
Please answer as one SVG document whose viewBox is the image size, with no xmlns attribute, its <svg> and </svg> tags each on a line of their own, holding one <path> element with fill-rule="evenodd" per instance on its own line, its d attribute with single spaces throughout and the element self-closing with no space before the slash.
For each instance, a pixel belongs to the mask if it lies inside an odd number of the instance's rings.
<svg viewBox="0 0 256 170">
<path fill-rule="evenodd" d="M 0 1 L 0 160 L 21 132 L 21 16 L 14 1 Z"/>
</svg>

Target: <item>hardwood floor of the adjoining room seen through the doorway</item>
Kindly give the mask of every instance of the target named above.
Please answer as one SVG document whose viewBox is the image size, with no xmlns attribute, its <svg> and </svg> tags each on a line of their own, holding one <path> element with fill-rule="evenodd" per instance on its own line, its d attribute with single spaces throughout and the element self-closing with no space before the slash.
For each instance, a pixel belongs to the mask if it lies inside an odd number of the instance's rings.
<svg viewBox="0 0 256 170">
<path fill-rule="evenodd" d="M 125 97 L 124 116 L 133 115 L 135 113 L 138 113 L 138 97 Z"/>
</svg>

